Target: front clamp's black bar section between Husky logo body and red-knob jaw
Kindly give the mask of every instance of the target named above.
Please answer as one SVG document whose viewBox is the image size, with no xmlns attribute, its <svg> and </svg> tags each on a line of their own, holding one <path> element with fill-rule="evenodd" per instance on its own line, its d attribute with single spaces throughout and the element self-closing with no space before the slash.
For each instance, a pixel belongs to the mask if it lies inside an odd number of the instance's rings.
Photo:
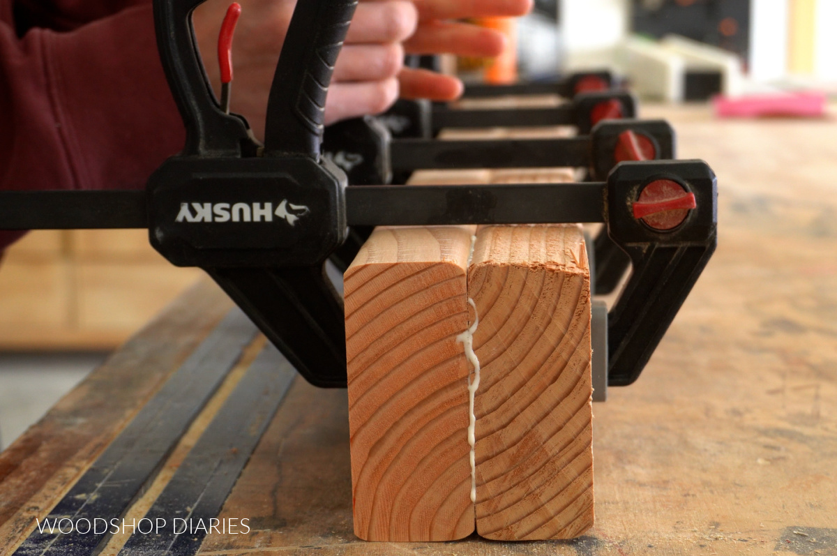
<svg viewBox="0 0 837 556">
<path fill-rule="evenodd" d="M 346 188 L 350 226 L 604 222 L 605 183 Z"/>
</svg>

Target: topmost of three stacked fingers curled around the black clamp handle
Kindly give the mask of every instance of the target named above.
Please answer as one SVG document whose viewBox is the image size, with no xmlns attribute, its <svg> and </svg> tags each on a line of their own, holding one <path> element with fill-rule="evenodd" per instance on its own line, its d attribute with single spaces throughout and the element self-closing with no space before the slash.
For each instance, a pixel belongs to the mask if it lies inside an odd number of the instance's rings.
<svg viewBox="0 0 837 556">
<path fill-rule="evenodd" d="M 386 0 L 357 5 L 346 43 L 397 43 L 416 30 L 419 14 L 409 0 Z"/>
</svg>

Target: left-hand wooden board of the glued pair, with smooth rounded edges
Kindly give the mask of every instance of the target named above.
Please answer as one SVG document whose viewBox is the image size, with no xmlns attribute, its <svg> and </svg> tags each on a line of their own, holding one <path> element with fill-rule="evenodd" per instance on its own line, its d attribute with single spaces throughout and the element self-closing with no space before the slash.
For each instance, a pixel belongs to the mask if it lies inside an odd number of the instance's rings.
<svg viewBox="0 0 837 556">
<path fill-rule="evenodd" d="M 474 531 L 467 428 L 470 227 L 377 228 L 344 276 L 355 534 Z"/>
</svg>

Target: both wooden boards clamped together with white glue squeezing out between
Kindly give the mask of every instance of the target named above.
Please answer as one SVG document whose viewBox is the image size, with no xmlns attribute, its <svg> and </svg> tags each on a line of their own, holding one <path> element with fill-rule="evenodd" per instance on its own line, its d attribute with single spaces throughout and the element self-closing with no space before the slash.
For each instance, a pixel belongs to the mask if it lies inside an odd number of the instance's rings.
<svg viewBox="0 0 837 556">
<path fill-rule="evenodd" d="M 589 279 L 575 225 L 375 230 L 345 275 L 358 537 L 592 527 Z"/>
</svg>

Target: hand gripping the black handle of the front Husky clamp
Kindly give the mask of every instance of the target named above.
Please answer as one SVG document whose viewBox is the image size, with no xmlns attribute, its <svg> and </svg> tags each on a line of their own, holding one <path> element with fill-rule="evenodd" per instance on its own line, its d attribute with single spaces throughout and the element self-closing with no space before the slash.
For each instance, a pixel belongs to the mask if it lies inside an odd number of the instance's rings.
<svg viewBox="0 0 837 556">
<path fill-rule="evenodd" d="M 193 13 L 193 27 L 210 82 L 220 88 L 215 58 L 218 30 L 231 0 L 208 0 Z M 241 17 L 233 39 L 232 111 L 247 118 L 264 136 L 270 85 L 285 41 L 293 0 L 239 0 Z M 402 43 L 416 29 L 418 11 L 409 0 L 360 3 L 337 59 L 326 97 L 326 125 L 377 114 L 398 98 Z"/>
</svg>

